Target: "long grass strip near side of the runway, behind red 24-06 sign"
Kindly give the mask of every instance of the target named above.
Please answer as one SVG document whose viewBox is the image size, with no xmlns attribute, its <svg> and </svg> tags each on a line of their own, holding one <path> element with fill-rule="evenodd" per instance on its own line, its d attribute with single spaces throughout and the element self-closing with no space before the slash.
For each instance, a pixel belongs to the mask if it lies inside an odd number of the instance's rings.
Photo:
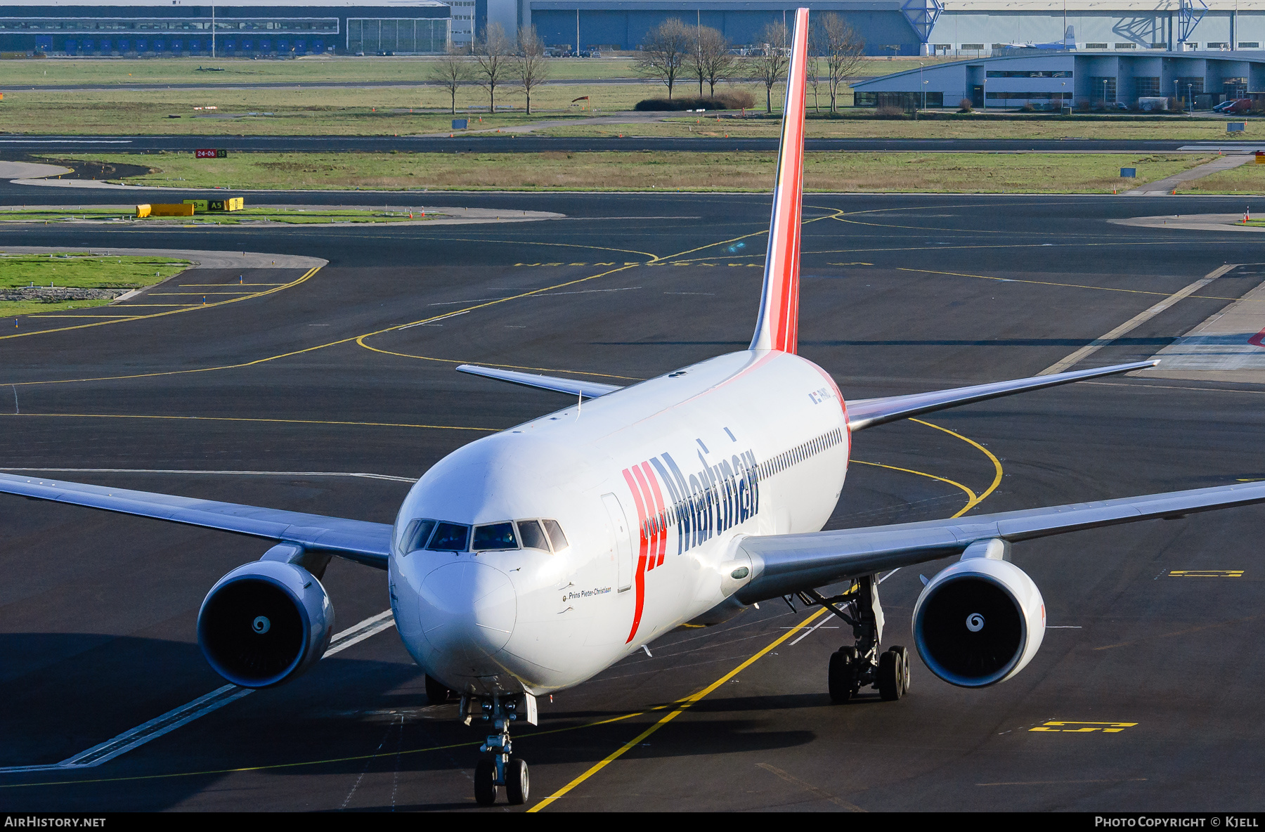
<svg viewBox="0 0 1265 832">
<path fill-rule="evenodd" d="M 102 154 L 157 172 L 129 183 L 186 187 L 383 190 L 768 191 L 773 153 L 239 153 Z M 805 187 L 863 192 L 1109 193 L 1207 162 L 1194 154 L 807 153 Z M 1121 180 L 1121 167 L 1138 177 Z M 149 197 L 152 199 L 152 197 Z"/>
</svg>

